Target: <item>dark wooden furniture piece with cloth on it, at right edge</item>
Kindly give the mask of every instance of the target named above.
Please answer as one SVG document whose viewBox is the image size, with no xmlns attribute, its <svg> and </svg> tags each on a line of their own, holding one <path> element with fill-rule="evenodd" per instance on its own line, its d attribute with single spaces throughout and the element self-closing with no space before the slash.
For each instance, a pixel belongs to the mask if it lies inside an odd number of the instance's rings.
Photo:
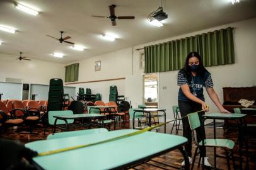
<svg viewBox="0 0 256 170">
<path fill-rule="evenodd" d="M 223 106 L 226 110 L 233 113 L 234 108 L 245 108 L 241 106 L 238 101 L 240 99 L 248 99 L 256 101 L 256 87 L 244 87 L 244 88 L 223 88 Z M 248 108 L 256 108 L 256 102 Z M 256 116 L 247 115 L 245 118 L 247 123 L 256 123 Z M 225 127 L 229 125 L 236 125 L 232 120 L 225 120 Z"/>
</svg>

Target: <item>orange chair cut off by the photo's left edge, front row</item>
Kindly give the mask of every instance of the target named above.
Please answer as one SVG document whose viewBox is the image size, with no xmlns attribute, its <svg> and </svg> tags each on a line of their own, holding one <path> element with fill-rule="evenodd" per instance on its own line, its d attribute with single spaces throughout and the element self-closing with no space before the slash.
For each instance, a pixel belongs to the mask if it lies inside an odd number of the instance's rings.
<svg viewBox="0 0 256 170">
<path fill-rule="evenodd" d="M 0 102 L 0 112 L 1 112 L 1 116 L 5 119 L 4 123 L 2 122 L 2 126 L 3 127 L 14 127 L 14 126 L 18 126 L 18 125 L 22 125 L 23 124 L 23 119 L 21 118 L 11 118 L 10 116 L 7 116 L 7 107 L 6 105 L 4 105 L 3 102 Z"/>
</svg>

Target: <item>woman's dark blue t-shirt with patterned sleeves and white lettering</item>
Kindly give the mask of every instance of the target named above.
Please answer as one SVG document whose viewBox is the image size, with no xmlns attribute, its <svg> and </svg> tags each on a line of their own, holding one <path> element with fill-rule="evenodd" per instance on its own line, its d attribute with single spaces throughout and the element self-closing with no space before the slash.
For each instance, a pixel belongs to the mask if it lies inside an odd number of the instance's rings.
<svg viewBox="0 0 256 170">
<path fill-rule="evenodd" d="M 190 92 L 194 95 L 197 96 L 197 98 L 201 99 L 204 101 L 204 94 L 203 94 L 203 87 L 205 88 L 212 88 L 213 83 L 212 83 L 212 78 L 211 74 L 209 72 L 205 72 L 204 76 L 192 76 L 191 77 L 191 82 L 188 81 L 187 77 L 185 77 L 184 73 L 179 71 L 178 72 L 178 81 L 177 81 L 178 86 L 188 84 Z M 178 100 L 179 101 L 190 101 L 185 94 L 183 93 L 182 89 L 180 88 L 178 91 Z"/>
</svg>

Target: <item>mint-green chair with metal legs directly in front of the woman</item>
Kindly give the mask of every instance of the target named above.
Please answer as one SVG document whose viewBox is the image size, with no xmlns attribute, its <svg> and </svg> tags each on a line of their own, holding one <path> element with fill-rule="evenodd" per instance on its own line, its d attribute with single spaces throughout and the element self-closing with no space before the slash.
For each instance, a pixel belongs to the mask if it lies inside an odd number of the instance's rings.
<svg viewBox="0 0 256 170">
<path fill-rule="evenodd" d="M 233 161 L 233 167 L 235 169 L 235 161 L 234 161 L 234 158 L 233 158 L 233 147 L 235 145 L 235 142 L 233 142 L 233 140 L 229 140 L 229 139 L 203 139 L 200 142 L 198 142 L 197 140 L 195 140 L 195 134 L 194 134 L 195 128 L 201 127 L 201 122 L 199 120 L 198 113 L 190 113 L 187 116 L 188 116 L 188 119 L 189 119 L 190 128 L 192 130 L 192 140 L 193 140 L 194 144 L 197 145 L 197 147 L 195 149 L 195 154 L 194 154 L 191 169 L 193 169 L 193 167 L 194 167 L 195 157 L 198 154 L 200 154 L 199 162 L 201 162 L 201 158 L 202 158 L 201 152 L 200 151 L 197 152 L 199 147 L 201 147 L 201 148 L 204 148 L 204 147 L 214 147 L 214 148 L 221 147 L 222 149 L 225 150 L 226 157 L 218 156 L 218 155 L 214 155 L 214 157 L 226 158 L 229 170 L 230 170 L 230 160 L 229 160 L 229 158 L 231 157 L 232 161 Z M 202 159 L 202 162 L 203 162 L 203 167 L 204 167 L 204 159 Z M 199 166 L 200 166 L 200 163 L 198 164 L 198 168 L 199 168 Z"/>
</svg>

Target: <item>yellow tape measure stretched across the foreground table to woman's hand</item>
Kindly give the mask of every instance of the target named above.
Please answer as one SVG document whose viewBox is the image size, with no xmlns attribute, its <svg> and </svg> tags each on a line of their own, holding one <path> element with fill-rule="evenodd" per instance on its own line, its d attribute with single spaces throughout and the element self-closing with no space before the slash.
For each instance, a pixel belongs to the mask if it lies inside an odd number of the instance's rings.
<svg viewBox="0 0 256 170">
<path fill-rule="evenodd" d="M 209 106 L 207 105 L 206 108 L 208 110 Z M 194 113 L 199 113 L 201 111 L 204 111 L 204 110 L 196 111 Z M 185 118 L 185 117 L 186 116 L 183 116 L 182 118 Z M 91 143 L 91 144 L 76 145 L 76 146 L 73 146 L 73 147 L 64 147 L 62 149 L 55 149 L 55 150 L 50 150 L 50 151 L 47 151 L 47 152 L 41 152 L 41 153 L 38 154 L 38 156 L 49 156 L 51 154 L 57 154 L 57 153 L 60 153 L 60 152 L 66 152 L 68 150 L 74 150 L 74 149 L 79 149 L 79 148 L 82 148 L 82 147 L 89 147 L 89 146 L 92 146 L 92 145 L 98 145 L 98 144 L 103 144 L 103 143 L 106 143 L 106 142 L 112 142 L 114 140 L 124 139 L 125 137 L 131 137 L 131 136 L 134 136 L 134 135 L 139 135 L 141 133 L 147 132 L 149 130 L 153 130 L 154 128 L 161 127 L 161 126 L 166 125 L 167 123 L 170 123 L 170 122 L 173 122 L 173 121 L 175 121 L 175 120 L 170 120 L 168 122 L 160 123 L 159 125 L 155 125 L 153 127 L 144 128 L 143 130 L 138 130 L 136 132 L 132 132 L 132 133 L 128 133 L 128 134 L 125 134 L 125 135 L 121 135 L 119 137 L 114 137 L 112 139 L 102 140 L 100 142 L 95 142 L 95 143 Z"/>
</svg>

